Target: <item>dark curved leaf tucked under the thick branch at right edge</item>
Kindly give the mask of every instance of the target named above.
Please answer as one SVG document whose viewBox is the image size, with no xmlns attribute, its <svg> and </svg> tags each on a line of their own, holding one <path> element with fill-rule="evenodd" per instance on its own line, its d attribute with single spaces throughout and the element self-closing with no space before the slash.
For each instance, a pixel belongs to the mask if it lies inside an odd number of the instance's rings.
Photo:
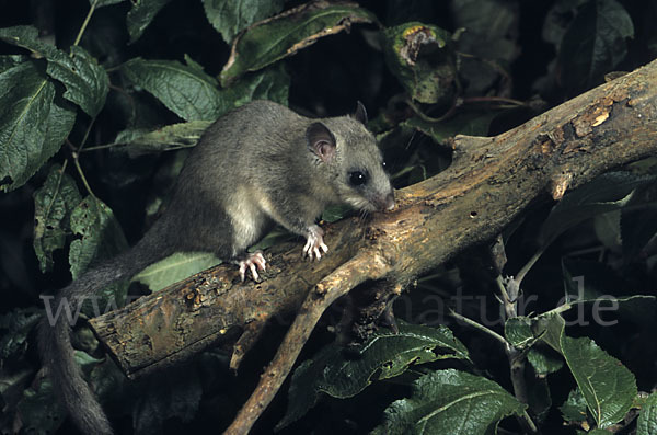
<svg viewBox="0 0 657 435">
<path fill-rule="evenodd" d="M 543 222 L 539 241 L 549 245 L 558 234 L 596 215 L 627 205 L 636 188 L 653 183 L 655 178 L 627 172 L 609 172 L 567 193 Z"/>
</svg>

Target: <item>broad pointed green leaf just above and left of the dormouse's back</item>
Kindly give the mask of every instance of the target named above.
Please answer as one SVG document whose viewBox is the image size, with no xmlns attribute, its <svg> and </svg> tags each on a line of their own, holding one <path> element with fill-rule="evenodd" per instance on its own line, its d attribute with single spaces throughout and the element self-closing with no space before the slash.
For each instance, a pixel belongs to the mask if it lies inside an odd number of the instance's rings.
<svg viewBox="0 0 657 435">
<path fill-rule="evenodd" d="M 175 60 L 136 58 L 124 64 L 122 71 L 185 121 L 215 121 L 232 108 L 217 89 L 217 80 Z"/>
</svg>

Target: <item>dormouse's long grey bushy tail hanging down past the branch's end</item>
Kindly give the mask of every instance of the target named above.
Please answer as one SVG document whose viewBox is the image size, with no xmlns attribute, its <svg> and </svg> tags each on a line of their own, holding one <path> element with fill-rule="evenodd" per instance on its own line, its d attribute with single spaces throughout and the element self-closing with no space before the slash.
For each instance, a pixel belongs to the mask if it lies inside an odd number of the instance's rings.
<svg viewBox="0 0 657 435">
<path fill-rule="evenodd" d="M 48 369 L 54 392 L 76 425 L 88 435 L 107 435 L 113 432 L 74 360 L 71 323 L 84 298 L 116 281 L 131 278 L 149 264 L 168 255 L 166 250 L 153 249 L 152 245 L 147 248 L 147 243 L 142 240 L 131 250 L 85 272 L 60 290 L 50 307 L 46 305 L 46 316 L 38 328 L 38 348 L 42 362 Z M 70 318 L 67 311 L 72 314 Z"/>
</svg>

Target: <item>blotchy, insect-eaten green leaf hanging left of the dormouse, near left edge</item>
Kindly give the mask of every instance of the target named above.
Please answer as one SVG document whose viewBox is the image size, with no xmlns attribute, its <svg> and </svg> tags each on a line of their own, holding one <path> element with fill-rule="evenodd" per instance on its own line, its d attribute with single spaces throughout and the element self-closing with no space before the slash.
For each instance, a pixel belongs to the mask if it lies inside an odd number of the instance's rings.
<svg viewBox="0 0 657 435">
<path fill-rule="evenodd" d="M 53 268 L 53 252 L 61 249 L 70 233 L 71 210 L 82 197 L 73 179 L 53 165 L 42 187 L 34 193 L 34 252 L 42 273 Z"/>
</svg>

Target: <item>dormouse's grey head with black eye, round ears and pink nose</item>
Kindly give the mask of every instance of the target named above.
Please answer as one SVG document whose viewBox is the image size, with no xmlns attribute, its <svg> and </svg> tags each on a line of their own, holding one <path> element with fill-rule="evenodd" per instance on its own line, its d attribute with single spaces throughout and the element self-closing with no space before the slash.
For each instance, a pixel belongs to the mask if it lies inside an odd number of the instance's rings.
<svg viewBox="0 0 657 435">
<path fill-rule="evenodd" d="M 324 167 L 327 182 L 341 202 L 368 211 L 394 207 L 394 191 L 374 136 L 365 127 L 360 102 L 353 116 L 324 118 L 306 130 L 314 162 Z"/>
</svg>

